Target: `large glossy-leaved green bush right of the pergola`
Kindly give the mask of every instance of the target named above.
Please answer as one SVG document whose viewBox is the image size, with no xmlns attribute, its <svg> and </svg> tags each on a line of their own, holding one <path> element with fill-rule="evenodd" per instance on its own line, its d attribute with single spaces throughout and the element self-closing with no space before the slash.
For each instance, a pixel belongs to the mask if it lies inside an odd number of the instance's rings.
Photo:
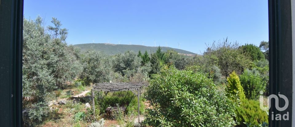
<svg viewBox="0 0 295 127">
<path fill-rule="evenodd" d="M 150 126 L 233 126 L 235 103 L 216 92 L 203 73 L 163 68 L 151 80 L 145 124 Z"/>
</svg>

